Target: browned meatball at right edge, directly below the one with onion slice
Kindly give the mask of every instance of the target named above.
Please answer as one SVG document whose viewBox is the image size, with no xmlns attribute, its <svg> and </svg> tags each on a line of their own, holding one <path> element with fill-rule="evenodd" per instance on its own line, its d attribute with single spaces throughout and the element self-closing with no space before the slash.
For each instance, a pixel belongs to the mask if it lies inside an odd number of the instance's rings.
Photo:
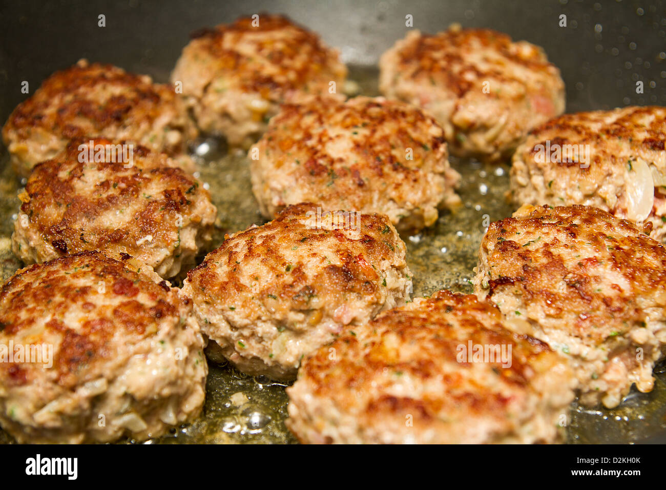
<svg viewBox="0 0 666 490">
<path fill-rule="evenodd" d="M 666 343 L 666 249 L 649 227 L 594 207 L 524 206 L 492 223 L 478 297 L 571 361 L 583 405 L 653 388 Z"/>
</svg>

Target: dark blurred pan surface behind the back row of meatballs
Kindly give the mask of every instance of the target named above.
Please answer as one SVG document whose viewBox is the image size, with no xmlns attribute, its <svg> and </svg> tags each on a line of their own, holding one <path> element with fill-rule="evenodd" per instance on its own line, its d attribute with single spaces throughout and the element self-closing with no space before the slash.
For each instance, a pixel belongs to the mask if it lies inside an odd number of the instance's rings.
<svg viewBox="0 0 666 490">
<path fill-rule="evenodd" d="M 562 71 L 567 111 L 666 105 L 663 1 L 7 1 L 0 2 L 0 121 L 45 77 L 86 57 L 166 81 L 190 32 L 240 15 L 286 13 L 342 51 L 346 63 L 376 64 L 414 28 L 452 22 L 492 27 L 543 46 Z M 98 27 L 98 15 L 106 27 Z M 559 27 L 559 15 L 567 27 Z M 636 93 L 643 81 L 644 93 Z"/>
</svg>

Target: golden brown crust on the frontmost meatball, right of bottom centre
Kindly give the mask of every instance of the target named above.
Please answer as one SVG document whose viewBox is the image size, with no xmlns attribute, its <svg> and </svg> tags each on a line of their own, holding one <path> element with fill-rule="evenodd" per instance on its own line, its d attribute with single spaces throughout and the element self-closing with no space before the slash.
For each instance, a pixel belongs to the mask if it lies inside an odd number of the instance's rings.
<svg viewBox="0 0 666 490">
<path fill-rule="evenodd" d="M 332 396 L 334 393 L 339 393 L 352 380 L 357 380 L 354 385 L 358 387 L 358 381 L 364 382 L 367 379 L 368 382 L 371 382 L 374 375 L 383 373 L 386 367 L 408 373 L 419 379 L 434 379 L 444 371 L 440 364 L 458 364 L 457 347 L 461 343 L 467 343 L 470 339 L 473 339 L 476 344 L 508 345 L 510 343 L 514 349 L 523 349 L 513 351 L 519 355 L 513 359 L 510 369 L 502 369 L 500 377 L 504 383 L 525 387 L 533 375 L 532 368 L 529 366 L 530 361 L 541 355 L 542 352 L 550 351 L 546 343 L 505 330 L 501 326 L 501 313 L 497 307 L 491 303 L 480 302 L 473 295 L 438 291 L 426 301 L 416 303 L 416 305 L 418 309 L 407 306 L 386 311 L 372 321 L 370 329 L 377 332 L 378 339 L 372 339 L 370 343 L 363 335 L 350 334 L 345 335 L 344 339 L 336 341 L 331 347 L 344 349 L 344 351 L 349 349 L 354 355 L 362 352 L 362 357 L 354 359 L 354 357 L 343 355 L 342 359 L 336 363 L 334 373 L 326 369 L 330 364 L 328 349 L 319 351 L 312 359 L 308 359 L 303 366 L 302 374 L 304 376 L 320 377 L 324 373 L 324 377 L 317 384 L 314 393 L 325 397 Z M 450 315 L 451 321 L 448 321 L 446 315 Z M 427 328 L 424 329 L 424 326 Z M 395 337 L 391 339 L 391 343 L 395 340 L 398 345 L 418 344 L 420 346 L 419 354 L 416 355 L 416 359 L 411 359 L 410 354 L 414 354 L 414 352 L 407 349 L 391 349 L 382 341 L 382 337 Z M 343 347 L 343 345 L 348 347 Z M 369 349 L 364 351 L 364 346 Z M 467 362 L 460 364 L 468 365 Z M 497 363 L 490 363 L 488 370 L 491 371 L 492 367 L 501 367 L 501 362 L 498 360 Z M 449 375 L 447 379 L 450 383 L 446 383 L 446 387 L 452 394 L 455 393 L 455 396 L 419 401 L 420 412 L 426 419 L 436 419 L 438 412 L 448 403 L 450 403 L 450 408 L 457 405 L 462 411 L 479 412 L 503 409 L 509 402 L 507 397 L 493 397 L 492 393 L 486 399 L 483 393 L 466 391 L 472 386 L 462 385 L 466 381 L 462 375 Z M 368 405 L 370 411 L 382 408 L 382 400 L 386 401 L 386 397 L 382 397 L 380 403 L 374 401 Z M 345 398 L 343 401 L 348 405 L 342 405 L 342 408 L 351 407 L 356 403 L 351 397 Z M 460 407 L 461 404 L 462 407 Z M 389 408 L 384 407 L 384 409 Z M 400 407 L 396 406 L 392 409 L 398 408 Z"/>
</svg>

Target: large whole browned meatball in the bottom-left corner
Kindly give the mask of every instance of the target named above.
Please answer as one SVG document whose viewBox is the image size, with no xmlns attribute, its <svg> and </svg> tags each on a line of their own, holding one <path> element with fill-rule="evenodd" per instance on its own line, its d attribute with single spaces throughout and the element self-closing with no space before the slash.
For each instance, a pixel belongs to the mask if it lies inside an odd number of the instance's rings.
<svg viewBox="0 0 666 490">
<path fill-rule="evenodd" d="M 20 443 L 159 436 L 201 411 L 203 346 L 192 306 L 135 259 L 31 265 L 0 289 L 0 425 Z"/>
</svg>

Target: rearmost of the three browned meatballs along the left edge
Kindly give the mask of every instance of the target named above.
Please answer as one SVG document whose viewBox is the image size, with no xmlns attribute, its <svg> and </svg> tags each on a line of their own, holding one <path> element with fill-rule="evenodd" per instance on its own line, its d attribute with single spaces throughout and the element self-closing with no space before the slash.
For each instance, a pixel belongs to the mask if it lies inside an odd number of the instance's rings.
<svg viewBox="0 0 666 490">
<path fill-rule="evenodd" d="M 47 78 L 14 109 L 2 132 L 11 163 L 24 177 L 82 137 L 131 139 L 192 171 L 186 141 L 196 134 L 173 87 L 85 59 Z"/>
</svg>

